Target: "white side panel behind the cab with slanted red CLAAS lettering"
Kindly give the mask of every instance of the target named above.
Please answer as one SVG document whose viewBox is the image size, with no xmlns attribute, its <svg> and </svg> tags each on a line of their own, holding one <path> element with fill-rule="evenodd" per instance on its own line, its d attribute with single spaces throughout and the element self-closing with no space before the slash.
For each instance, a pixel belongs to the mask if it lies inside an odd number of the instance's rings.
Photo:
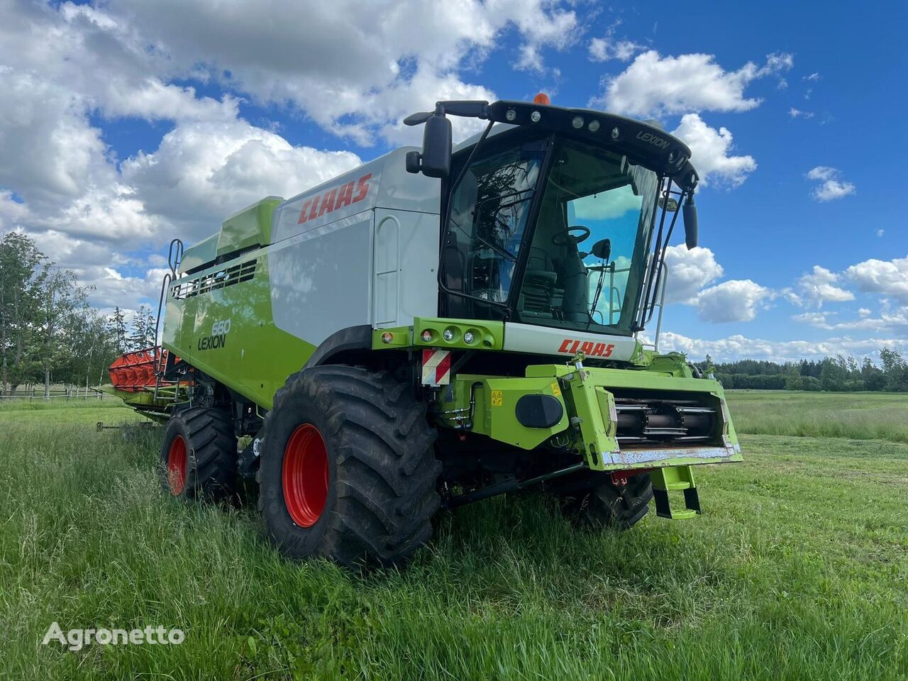
<svg viewBox="0 0 908 681">
<path fill-rule="evenodd" d="M 268 266 L 275 325 L 318 345 L 351 326 L 438 316 L 438 180 L 407 173 L 410 149 L 281 203 Z"/>
</svg>

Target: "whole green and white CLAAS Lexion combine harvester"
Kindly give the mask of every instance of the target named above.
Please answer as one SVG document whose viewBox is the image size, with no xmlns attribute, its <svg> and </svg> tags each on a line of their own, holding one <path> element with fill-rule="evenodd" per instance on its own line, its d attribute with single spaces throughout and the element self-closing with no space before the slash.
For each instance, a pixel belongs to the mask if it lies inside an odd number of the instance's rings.
<svg viewBox="0 0 908 681">
<path fill-rule="evenodd" d="M 452 150 L 452 115 L 489 124 Z M 163 488 L 255 479 L 282 552 L 344 565 L 400 563 L 439 507 L 531 486 L 597 526 L 654 497 L 699 513 L 694 467 L 741 454 L 719 383 L 656 350 L 679 213 L 696 245 L 690 150 L 545 95 L 405 123 L 421 150 L 172 243 L 163 348 L 111 369 L 167 423 Z"/>
</svg>

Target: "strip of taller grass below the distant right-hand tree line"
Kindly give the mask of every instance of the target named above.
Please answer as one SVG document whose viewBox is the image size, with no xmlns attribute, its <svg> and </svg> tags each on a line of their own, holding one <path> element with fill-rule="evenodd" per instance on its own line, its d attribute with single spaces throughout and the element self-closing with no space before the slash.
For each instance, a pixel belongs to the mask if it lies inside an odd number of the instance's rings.
<svg viewBox="0 0 908 681">
<path fill-rule="evenodd" d="M 908 442 L 908 394 L 729 390 L 739 433 Z"/>
</svg>

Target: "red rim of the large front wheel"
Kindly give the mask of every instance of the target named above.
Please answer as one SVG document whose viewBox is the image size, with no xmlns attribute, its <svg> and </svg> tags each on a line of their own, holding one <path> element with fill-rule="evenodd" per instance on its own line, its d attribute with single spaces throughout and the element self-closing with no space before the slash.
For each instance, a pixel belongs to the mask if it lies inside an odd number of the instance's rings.
<svg viewBox="0 0 908 681">
<path fill-rule="evenodd" d="M 301 528 L 311 528 L 328 499 L 328 451 L 315 426 L 303 423 L 287 440 L 281 481 L 291 519 Z"/>
</svg>

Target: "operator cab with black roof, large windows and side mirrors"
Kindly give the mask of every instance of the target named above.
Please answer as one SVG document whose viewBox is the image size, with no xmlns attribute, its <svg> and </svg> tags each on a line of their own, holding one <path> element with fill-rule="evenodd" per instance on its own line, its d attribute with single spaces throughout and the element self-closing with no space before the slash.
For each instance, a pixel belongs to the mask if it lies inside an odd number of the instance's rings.
<svg viewBox="0 0 908 681">
<path fill-rule="evenodd" d="M 445 113 L 490 123 L 452 157 Z M 440 102 L 406 122 L 426 123 L 408 170 L 448 178 L 444 317 L 630 336 L 651 315 L 685 198 L 688 247 L 696 244 L 690 150 L 654 125 L 513 102 Z M 492 133 L 495 122 L 509 125 Z"/>
</svg>

